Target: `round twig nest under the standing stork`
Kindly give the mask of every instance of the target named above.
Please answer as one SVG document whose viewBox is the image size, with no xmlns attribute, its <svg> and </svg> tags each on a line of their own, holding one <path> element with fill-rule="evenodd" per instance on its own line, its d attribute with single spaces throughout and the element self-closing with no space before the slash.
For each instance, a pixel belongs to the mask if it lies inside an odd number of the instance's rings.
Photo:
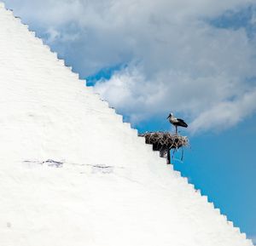
<svg viewBox="0 0 256 246">
<path fill-rule="evenodd" d="M 147 132 L 139 134 L 145 137 L 146 143 L 153 145 L 154 151 L 159 151 L 161 157 L 166 157 L 171 149 L 178 149 L 183 146 L 189 146 L 189 140 L 186 136 L 171 134 L 169 132 Z"/>
</svg>

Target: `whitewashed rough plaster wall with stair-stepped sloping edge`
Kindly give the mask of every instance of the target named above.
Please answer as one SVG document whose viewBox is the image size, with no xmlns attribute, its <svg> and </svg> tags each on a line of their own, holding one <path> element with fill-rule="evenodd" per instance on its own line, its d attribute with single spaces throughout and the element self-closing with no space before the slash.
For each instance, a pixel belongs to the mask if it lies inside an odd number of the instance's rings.
<svg viewBox="0 0 256 246">
<path fill-rule="evenodd" d="M 1 246 L 252 246 L 0 3 Z"/>
</svg>

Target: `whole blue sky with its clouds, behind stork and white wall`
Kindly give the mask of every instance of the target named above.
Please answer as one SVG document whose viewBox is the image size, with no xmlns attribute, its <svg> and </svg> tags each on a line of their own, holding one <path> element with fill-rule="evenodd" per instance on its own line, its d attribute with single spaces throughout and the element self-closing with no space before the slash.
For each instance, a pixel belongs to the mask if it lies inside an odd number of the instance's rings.
<svg viewBox="0 0 256 246">
<path fill-rule="evenodd" d="M 256 243 L 255 0 L 4 0 L 140 132 L 189 123 L 174 167 Z"/>
</svg>

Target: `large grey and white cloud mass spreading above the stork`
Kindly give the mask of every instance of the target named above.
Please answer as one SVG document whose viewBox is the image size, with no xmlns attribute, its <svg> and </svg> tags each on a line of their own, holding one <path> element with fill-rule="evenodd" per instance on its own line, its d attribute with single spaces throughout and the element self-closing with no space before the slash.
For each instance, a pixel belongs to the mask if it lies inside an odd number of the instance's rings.
<svg viewBox="0 0 256 246">
<path fill-rule="evenodd" d="M 237 16 L 253 1 L 5 2 L 82 77 L 118 67 L 95 89 L 134 124 L 172 111 L 185 114 L 196 133 L 255 112 L 254 36 L 207 21 L 227 10 Z"/>
</svg>

